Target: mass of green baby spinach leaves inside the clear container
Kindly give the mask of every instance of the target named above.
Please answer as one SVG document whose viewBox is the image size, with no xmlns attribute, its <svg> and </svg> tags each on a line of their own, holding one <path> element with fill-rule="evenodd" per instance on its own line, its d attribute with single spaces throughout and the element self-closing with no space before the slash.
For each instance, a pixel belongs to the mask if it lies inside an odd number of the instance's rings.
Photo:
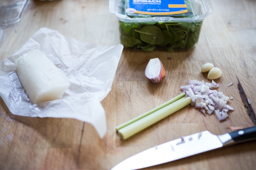
<svg viewBox="0 0 256 170">
<path fill-rule="evenodd" d="M 119 21 L 124 47 L 153 51 L 162 46 L 168 51 L 189 49 L 198 41 L 202 21 L 197 23 L 127 23 Z"/>
</svg>

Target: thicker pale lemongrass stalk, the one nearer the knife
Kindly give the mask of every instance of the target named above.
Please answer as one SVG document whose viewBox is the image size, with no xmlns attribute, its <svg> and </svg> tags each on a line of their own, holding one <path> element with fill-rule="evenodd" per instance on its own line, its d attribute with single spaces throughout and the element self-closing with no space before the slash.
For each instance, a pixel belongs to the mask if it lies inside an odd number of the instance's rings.
<svg viewBox="0 0 256 170">
<path fill-rule="evenodd" d="M 184 97 L 160 110 L 155 111 L 154 113 L 149 114 L 138 121 L 121 128 L 118 131 L 118 134 L 121 136 L 122 139 L 127 139 L 134 134 L 138 133 L 139 131 L 153 125 L 154 123 L 160 121 L 161 119 L 169 116 L 170 114 L 180 110 L 181 108 L 189 105 L 191 103 L 190 97 Z"/>
</svg>

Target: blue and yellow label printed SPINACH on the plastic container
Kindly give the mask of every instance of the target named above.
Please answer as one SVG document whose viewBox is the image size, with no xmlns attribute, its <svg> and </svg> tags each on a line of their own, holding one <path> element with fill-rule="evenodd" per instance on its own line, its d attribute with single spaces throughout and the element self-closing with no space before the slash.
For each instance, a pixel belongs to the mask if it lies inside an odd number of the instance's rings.
<svg viewBox="0 0 256 170">
<path fill-rule="evenodd" d="M 186 13 L 184 0 L 130 0 L 127 13 L 172 15 Z"/>
</svg>

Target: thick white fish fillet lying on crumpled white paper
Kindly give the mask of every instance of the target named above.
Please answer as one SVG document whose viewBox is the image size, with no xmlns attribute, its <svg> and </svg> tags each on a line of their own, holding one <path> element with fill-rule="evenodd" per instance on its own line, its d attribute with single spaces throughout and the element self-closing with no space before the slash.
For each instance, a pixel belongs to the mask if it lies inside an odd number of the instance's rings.
<svg viewBox="0 0 256 170">
<path fill-rule="evenodd" d="M 70 83 L 40 50 L 31 50 L 15 61 L 16 73 L 32 103 L 62 98 Z"/>
</svg>

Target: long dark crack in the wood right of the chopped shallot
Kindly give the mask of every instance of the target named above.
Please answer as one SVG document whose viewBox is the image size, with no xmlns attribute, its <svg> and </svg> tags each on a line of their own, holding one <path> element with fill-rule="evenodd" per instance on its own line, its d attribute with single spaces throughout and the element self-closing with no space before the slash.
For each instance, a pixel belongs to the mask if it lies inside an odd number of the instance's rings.
<svg viewBox="0 0 256 170">
<path fill-rule="evenodd" d="M 238 77 L 237 77 L 237 80 L 238 80 L 237 88 L 238 88 L 238 90 L 239 90 L 239 94 L 240 94 L 240 97 L 241 97 L 241 99 L 242 99 L 242 102 L 243 102 L 243 104 L 244 104 L 244 106 L 245 106 L 245 110 L 246 110 L 246 112 L 247 112 L 249 118 L 251 119 L 252 123 L 253 123 L 254 125 L 256 125 L 256 116 L 255 116 L 255 112 L 254 112 L 254 110 L 252 109 L 251 104 L 248 102 L 248 99 L 247 99 L 247 97 L 246 97 L 245 91 L 244 91 L 244 89 L 243 89 L 243 87 L 242 87 L 242 85 L 241 85 L 241 83 L 240 83 Z"/>
</svg>

